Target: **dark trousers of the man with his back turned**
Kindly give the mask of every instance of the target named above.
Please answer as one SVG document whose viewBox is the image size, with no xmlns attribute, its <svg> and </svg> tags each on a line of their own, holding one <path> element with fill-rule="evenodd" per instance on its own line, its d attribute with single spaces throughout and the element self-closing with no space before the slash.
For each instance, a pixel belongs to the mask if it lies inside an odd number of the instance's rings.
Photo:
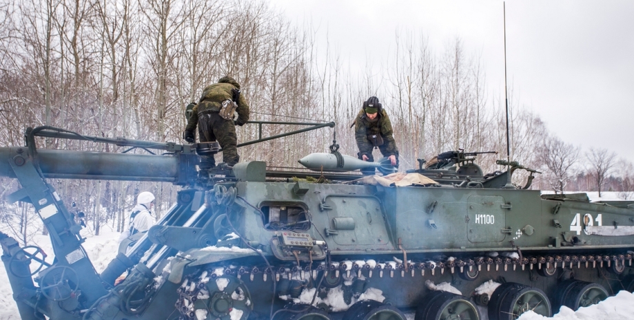
<svg viewBox="0 0 634 320">
<path fill-rule="evenodd" d="M 225 120 L 218 112 L 198 114 L 198 136 L 201 142 L 218 141 L 223 148 L 223 162 L 233 166 L 238 163 L 238 136 L 233 120 Z M 201 169 L 214 167 L 216 162 L 213 156 L 201 157 Z"/>
</svg>

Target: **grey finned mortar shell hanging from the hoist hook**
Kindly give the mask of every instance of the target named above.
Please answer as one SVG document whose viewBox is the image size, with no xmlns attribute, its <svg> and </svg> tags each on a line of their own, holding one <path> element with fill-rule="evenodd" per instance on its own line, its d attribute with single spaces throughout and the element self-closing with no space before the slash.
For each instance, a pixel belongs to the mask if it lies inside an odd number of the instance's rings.
<svg viewBox="0 0 634 320">
<path fill-rule="evenodd" d="M 313 171 L 352 171 L 366 168 L 378 168 L 383 174 L 396 172 L 389 158 L 381 158 L 378 162 L 367 162 L 351 156 L 341 155 L 342 167 L 337 167 L 337 156 L 334 153 L 311 153 L 298 162 Z"/>
</svg>

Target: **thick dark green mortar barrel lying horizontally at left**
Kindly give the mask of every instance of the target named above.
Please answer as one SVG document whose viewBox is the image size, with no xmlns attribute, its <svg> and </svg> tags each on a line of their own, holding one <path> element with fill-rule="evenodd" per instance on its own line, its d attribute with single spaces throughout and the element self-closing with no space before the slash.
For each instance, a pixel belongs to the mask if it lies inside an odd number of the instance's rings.
<svg viewBox="0 0 634 320">
<path fill-rule="evenodd" d="M 12 165 L 28 158 L 25 147 L 0 147 L 0 176 L 17 178 Z M 45 178 L 133 180 L 185 184 L 195 177 L 196 155 L 152 156 L 132 153 L 38 149 Z M 10 163 L 13 162 L 13 163 Z"/>
</svg>

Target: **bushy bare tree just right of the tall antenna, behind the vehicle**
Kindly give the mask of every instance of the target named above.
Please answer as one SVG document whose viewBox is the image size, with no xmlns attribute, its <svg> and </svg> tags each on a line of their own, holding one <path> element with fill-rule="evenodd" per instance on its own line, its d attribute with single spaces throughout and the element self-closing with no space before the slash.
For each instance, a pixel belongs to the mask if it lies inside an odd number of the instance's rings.
<svg viewBox="0 0 634 320">
<path fill-rule="evenodd" d="M 564 193 L 566 184 L 575 175 L 573 168 L 579 148 L 556 136 L 549 136 L 542 142 L 539 151 L 540 161 L 547 168 L 546 180 L 555 193 Z"/>
</svg>

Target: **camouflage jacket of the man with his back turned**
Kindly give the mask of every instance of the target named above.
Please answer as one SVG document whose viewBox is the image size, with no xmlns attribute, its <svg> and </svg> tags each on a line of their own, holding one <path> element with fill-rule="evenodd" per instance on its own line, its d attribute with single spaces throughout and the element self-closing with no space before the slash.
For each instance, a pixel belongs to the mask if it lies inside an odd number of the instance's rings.
<svg viewBox="0 0 634 320">
<path fill-rule="evenodd" d="M 198 124 L 198 115 L 205 114 L 207 112 L 218 112 L 221 109 L 224 100 L 232 100 L 232 89 L 240 89 L 240 85 L 231 77 L 225 76 L 214 83 L 208 85 L 203 90 L 203 96 L 199 100 L 198 104 L 192 109 L 192 116 L 187 120 L 186 130 L 193 131 Z M 249 103 L 243 93 L 240 94 L 240 98 L 237 101 L 238 108 L 236 113 L 238 114 L 238 121 L 247 122 L 249 120 Z"/>
</svg>

